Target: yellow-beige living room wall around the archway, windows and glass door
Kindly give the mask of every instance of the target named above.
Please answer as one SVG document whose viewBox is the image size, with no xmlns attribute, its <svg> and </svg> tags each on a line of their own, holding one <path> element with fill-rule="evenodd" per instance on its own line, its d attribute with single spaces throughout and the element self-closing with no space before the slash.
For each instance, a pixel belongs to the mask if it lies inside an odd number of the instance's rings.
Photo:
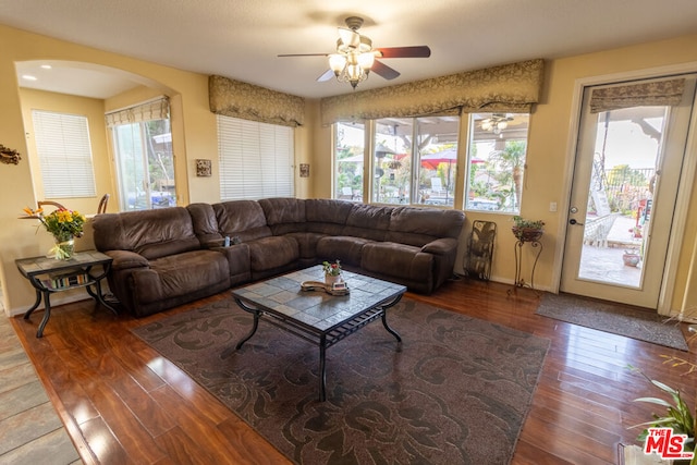
<svg viewBox="0 0 697 465">
<path fill-rule="evenodd" d="M 652 42 L 617 50 L 551 60 L 547 63 L 547 76 L 542 101 L 530 118 L 528 169 L 526 172 L 523 216 L 541 218 L 547 222 L 543 237 L 545 252 L 536 272 L 536 284 L 542 289 L 554 289 L 559 257 L 555 254 L 564 231 L 561 212 L 549 212 L 549 203 L 560 205 L 567 196 L 567 179 L 572 157 L 568 154 L 572 102 L 577 79 L 637 70 L 665 66 L 685 62 L 697 62 L 697 36 Z M 30 163 L 27 161 L 27 144 L 24 138 L 22 105 L 16 87 L 15 61 L 71 60 L 109 66 L 130 73 L 143 81 L 149 89 L 168 95 L 172 102 L 173 140 L 176 157 L 178 199 L 180 205 L 194 201 L 218 201 L 220 198 L 217 179 L 196 178 L 194 163 L 198 158 L 208 158 L 217 170 L 216 118 L 208 109 L 208 78 L 108 53 L 73 44 L 0 26 L 0 143 L 17 149 L 23 155 L 19 166 L 0 166 L 0 282 L 4 290 L 3 304 L 12 313 L 21 313 L 34 301 L 34 292 L 14 267 L 14 259 L 40 255 L 45 245 L 33 234 L 26 234 L 26 223 L 17 220 L 26 205 L 36 205 L 32 188 Z M 150 90 L 148 90 L 150 91 Z M 148 93 L 146 91 L 146 94 Z M 139 91 L 118 96 L 105 102 L 106 109 L 120 108 L 138 100 Z M 331 131 L 320 126 L 319 106 L 316 101 L 306 105 L 306 125 L 296 131 L 296 162 L 310 163 L 310 176 L 301 179 L 296 170 L 297 196 L 331 196 Z M 109 143 L 106 144 L 109 146 Z M 692 154 L 696 156 L 696 154 Z M 460 174 L 462 179 L 462 174 Z M 113 182 L 113 181 L 112 181 Z M 462 198 L 462 193 L 458 193 Z M 697 192 L 692 196 L 690 211 L 697 209 Z M 469 213 L 468 221 L 482 219 L 499 224 L 499 240 L 493 264 L 493 277 L 511 282 L 514 276 L 512 260 L 514 237 L 509 233 L 510 217 L 491 213 Z M 687 237 L 697 234 L 697 224 L 689 219 Z M 687 301 L 697 299 L 686 292 L 688 278 L 695 281 L 693 256 L 696 245 L 687 241 L 682 253 L 680 271 L 675 281 L 673 305 L 678 308 Z M 11 290 L 8 291 L 8 290 Z M 693 292 L 693 294 L 695 294 Z M 696 304 L 695 302 L 692 303 Z"/>
</svg>

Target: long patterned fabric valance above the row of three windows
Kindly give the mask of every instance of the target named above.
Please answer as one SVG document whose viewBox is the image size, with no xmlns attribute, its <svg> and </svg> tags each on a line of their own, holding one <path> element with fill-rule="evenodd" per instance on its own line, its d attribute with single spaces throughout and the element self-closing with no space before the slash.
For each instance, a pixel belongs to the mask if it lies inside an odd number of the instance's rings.
<svg viewBox="0 0 697 465">
<path fill-rule="evenodd" d="M 542 89 L 545 61 L 523 61 L 321 99 L 322 124 L 445 111 L 529 112 Z"/>
</svg>

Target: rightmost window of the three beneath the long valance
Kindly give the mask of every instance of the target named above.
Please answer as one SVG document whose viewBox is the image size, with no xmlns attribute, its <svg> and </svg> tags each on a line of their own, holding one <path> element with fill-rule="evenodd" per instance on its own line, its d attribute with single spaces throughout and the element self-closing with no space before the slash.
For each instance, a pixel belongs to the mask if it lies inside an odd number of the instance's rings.
<svg viewBox="0 0 697 465">
<path fill-rule="evenodd" d="M 465 209 L 518 213 L 528 113 L 473 113 Z"/>
</svg>

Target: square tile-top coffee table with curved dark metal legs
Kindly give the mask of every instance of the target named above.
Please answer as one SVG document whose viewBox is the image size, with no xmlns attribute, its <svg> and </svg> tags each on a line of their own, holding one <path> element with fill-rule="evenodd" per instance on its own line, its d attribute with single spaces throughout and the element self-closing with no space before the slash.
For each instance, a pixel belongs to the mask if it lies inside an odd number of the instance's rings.
<svg viewBox="0 0 697 465">
<path fill-rule="evenodd" d="M 319 346 L 319 400 L 325 401 L 327 347 L 381 318 L 384 329 L 396 339 L 400 351 L 402 338 L 388 325 L 387 309 L 400 302 L 406 287 L 345 270 L 342 277 L 350 291 L 346 295 L 301 289 L 303 282 L 323 278 L 321 266 L 233 290 L 233 298 L 241 308 L 254 315 L 254 323 L 249 333 L 236 346 L 227 348 L 222 356 L 242 348 L 256 333 L 264 316 L 265 321 Z"/>
</svg>

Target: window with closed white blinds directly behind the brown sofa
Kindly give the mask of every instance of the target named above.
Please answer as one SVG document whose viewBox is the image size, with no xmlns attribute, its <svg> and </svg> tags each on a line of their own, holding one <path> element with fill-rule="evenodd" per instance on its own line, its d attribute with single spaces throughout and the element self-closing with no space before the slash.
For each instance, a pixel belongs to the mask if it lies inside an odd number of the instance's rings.
<svg viewBox="0 0 697 465">
<path fill-rule="evenodd" d="M 293 197 L 293 129 L 218 115 L 220 198 Z"/>
</svg>

